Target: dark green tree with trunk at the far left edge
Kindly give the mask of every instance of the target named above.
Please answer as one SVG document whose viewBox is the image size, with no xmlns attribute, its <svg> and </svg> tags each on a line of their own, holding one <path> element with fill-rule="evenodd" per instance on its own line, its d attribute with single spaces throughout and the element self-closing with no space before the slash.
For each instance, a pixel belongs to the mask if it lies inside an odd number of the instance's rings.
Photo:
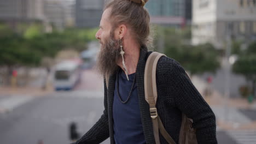
<svg viewBox="0 0 256 144">
<path fill-rule="evenodd" d="M 29 49 L 27 40 L 12 31 L 0 36 L 0 66 L 7 67 L 7 84 L 10 83 L 11 72 L 19 65 L 38 65 L 40 57 L 36 51 Z M 1 31 L 0 31 L 1 33 Z"/>
</svg>

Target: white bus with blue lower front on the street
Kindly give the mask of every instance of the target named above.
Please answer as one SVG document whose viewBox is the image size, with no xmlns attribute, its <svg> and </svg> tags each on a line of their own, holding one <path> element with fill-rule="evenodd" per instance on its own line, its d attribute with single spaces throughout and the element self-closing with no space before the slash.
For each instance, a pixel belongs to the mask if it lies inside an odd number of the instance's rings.
<svg viewBox="0 0 256 144">
<path fill-rule="evenodd" d="M 80 62 L 64 61 L 54 68 L 55 91 L 71 90 L 80 80 Z"/>
</svg>

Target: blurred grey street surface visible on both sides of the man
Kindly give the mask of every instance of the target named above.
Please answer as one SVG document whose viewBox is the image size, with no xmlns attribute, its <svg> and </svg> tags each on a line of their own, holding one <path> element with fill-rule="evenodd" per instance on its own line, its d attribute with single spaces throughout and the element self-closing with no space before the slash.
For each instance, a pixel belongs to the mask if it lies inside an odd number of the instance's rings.
<svg viewBox="0 0 256 144">
<path fill-rule="evenodd" d="M 94 70 L 85 70 L 75 91 L 60 91 L 41 97 L 32 95 L 0 95 L 0 143 L 33 144 L 70 143 L 69 124 L 77 123 L 78 133 L 88 131 L 103 111 L 102 79 Z M 212 107 L 217 118 L 221 107 Z M 2 109 L 2 111 L 1 111 Z M 237 114 L 238 113 L 238 114 Z M 237 122 L 252 122 L 253 110 L 230 110 Z M 255 115 L 254 115 L 255 116 Z M 223 130 L 217 128 L 220 144 L 255 144 L 254 130 Z M 109 139 L 103 142 L 109 143 Z"/>
</svg>

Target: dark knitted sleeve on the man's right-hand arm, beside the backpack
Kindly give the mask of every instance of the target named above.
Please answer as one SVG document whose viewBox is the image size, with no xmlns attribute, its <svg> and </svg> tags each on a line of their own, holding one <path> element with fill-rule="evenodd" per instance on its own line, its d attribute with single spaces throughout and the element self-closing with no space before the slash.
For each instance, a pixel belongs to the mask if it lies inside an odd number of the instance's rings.
<svg viewBox="0 0 256 144">
<path fill-rule="evenodd" d="M 202 98 L 185 70 L 178 62 L 168 57 L 160 59 L 160 71 L 165 75 L 164 83 L 172 87 L 174 105 L 187 117 L 193 119 L 197 142 L 217 143 L 216 117 L 211 107 Z"/>
</svg>

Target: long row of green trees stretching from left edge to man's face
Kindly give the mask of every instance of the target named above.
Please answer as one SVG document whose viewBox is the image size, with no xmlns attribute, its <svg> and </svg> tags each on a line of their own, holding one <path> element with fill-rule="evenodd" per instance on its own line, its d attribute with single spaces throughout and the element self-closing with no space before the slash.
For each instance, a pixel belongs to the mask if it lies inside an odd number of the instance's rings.
<svg viewBox="0 0 256 144">
<path fill-rule="evenodd" d="M 96 29 L 74 28 L 44 33 L 39 23 L 21 23 L 17 29 L 0 23 L 0 66 L 10 75 L 14 67 L 37 66 L 43 57 L 55 57 L 63 49 L 83 51 L 95 33 Z"/>
</svg>

